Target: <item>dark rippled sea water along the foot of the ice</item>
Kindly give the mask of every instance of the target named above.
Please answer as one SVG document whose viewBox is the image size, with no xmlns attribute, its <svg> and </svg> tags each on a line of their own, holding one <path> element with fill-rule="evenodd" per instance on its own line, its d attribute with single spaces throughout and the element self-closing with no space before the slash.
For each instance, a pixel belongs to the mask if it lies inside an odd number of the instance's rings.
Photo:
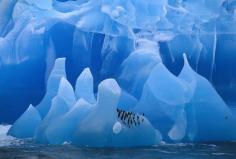
<svg viewBox="0 0 236 159">
<path fill-rule="evenodd" d="M 0 159 L 235 159 L 236 142 L 208 144 L 165 144 L 125 149 L 80 148 L 36 144 L 6 133 L 9 125 L 0 125 Z"/>
</svg>

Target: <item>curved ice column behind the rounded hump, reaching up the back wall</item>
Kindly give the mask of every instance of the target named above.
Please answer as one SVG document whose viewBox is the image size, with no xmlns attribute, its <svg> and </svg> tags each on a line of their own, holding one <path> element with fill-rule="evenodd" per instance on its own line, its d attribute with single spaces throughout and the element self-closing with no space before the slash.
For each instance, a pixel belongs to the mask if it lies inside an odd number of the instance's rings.
<svg viewBox="0 0 236 159">
<path fill-rule="evenodd" d="M 135 51 L 121 64 L 119 83 L 136 98 L 140 98 L 143 85 L 153 67 L 161 62 L 156 42 L 139 39 Z M 140 70 L 139 72 L 135 70 Z"/>
</svg>

